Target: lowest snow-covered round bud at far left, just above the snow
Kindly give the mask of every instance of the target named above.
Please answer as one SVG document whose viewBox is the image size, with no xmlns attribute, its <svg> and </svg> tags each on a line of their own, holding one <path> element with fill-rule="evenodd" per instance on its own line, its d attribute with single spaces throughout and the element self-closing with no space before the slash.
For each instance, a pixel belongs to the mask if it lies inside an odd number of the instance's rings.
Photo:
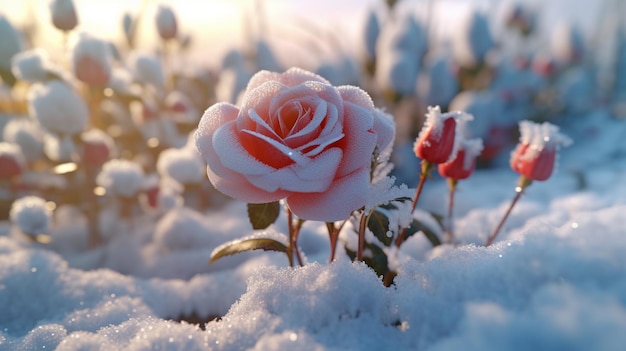
<svg viewBox="0 0 626 351">
<path fill-rule="evenodd" d="M 52 208 L 38 196 L 25 196 L 13 202 L 9 216 L 11 222 L 30 240 L 48 244 L 51 241 L 48 231 Z"/>
</svg>

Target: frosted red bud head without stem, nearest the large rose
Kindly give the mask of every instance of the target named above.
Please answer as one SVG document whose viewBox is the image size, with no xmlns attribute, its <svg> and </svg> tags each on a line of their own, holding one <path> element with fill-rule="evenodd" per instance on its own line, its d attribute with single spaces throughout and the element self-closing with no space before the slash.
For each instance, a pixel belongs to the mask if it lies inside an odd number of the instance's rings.
<svg viewBox="0 0 626 351">
<path fill-rule="evenodd" d="M 439 106 L 429 106 L 426 122 L 413 147 L 415 155 L 430 163 L 444 163 L 453 157 L 457 119 L 470 120 L 472 117 L 463 112 L 442 114 Z"/>
</svg>

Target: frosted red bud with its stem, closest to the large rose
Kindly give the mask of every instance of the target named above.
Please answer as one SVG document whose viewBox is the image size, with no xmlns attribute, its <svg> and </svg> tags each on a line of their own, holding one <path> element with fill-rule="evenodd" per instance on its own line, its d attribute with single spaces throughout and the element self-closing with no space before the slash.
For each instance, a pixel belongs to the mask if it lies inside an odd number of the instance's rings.
<svg viewBox="0 0 626 351">
<path fill-rule="evenodd" d="M 413 147 L 415 155 L 422 159 L 422 162 L 420 179 L 413 197 L 411 212 L 415 210 L 426 178 L 430 176 L 435 165 L 454 159 L 459 145 L 459 138 L 457 137 L 459 122 L 472 119 L 473 117 L 465 112 L 441 113 L 439 106 L 428 107 L 426 122 Z M 402 245 L 405 239 L 406 228 L 396 238 L 396 246 Z"/>
</svg>

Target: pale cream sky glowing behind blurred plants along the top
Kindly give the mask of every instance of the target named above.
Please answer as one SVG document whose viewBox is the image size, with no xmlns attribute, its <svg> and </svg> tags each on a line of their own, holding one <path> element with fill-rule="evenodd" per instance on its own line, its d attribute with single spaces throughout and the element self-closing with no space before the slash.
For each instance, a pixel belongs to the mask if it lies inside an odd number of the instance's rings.
<svg viewBox="0 0 626 351">
<path fill-rule="evenodd" d="M 409 0 L 416 6 L 418 17 L 424 17 L 429 0 Z M 510 0 L 430 0 L 435 32 L 445 36 L 459 19 L 477 7 L 496 18 Z M 619 0 L 526 0 L 542 9 L 543 25 L 570 20 L 588 32 L 597 26 L 602 4 Z M 61 34 L 52 27 L 47 4 L 49 0 L 0 0 L 0 13 L 17 26 L 36 19 L 39 45 L 51 52 L 60 48 Z M 360 40 L 362 21 L 368 9 L 382 7 L 382 0 L 74 0 L 81 30 L 116 43 L 123 43 L 121 18 L 124 12 L 138 13 L 142 4 L 146 12 L 140 28 L 142 47 L 155 47 L 154 8 L 158 3 L 170 4 L 179 19 L 182 32 L 192 34 L 194 57 L 215 64 L 231 46 L 240 46 L 244 28 L 253 31 L 260 26 L 273 44 L 290 55 L 306 51 L 312 38 L 335 36 L 346 46 Z M 261 7 L 259 6 L 261 5 Z M 495 33 L 497 35 L 497 32 Z M 354 48 L 352 48 L 354 49 Z M 332 49 L 331 49 L 332 50 Z M 54 54 L 53 54 L 54 55 Z"/>
</svg>

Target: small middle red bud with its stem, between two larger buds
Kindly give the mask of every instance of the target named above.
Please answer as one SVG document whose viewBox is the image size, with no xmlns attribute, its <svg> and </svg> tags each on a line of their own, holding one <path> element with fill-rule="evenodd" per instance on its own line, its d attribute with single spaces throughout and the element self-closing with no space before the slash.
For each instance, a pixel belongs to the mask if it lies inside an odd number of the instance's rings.
<svg viewBox="0 0 626 351">
<path fill-rule="evenodd" d="M 483 141 L 477 139 L 465 139 L 459 135 L 459 148 L 456 156 L 446 163 L 440 163 L 438 167 L 439 174 L 448 179 L 449 197 L 448 197 L 448 217 L 446 230 L 446 243 L 452 243 L 454 239 L 453 215 L 454 193 L 459 180 L 466 179 L 476 167 L 476 157 L 483 150 Z"/>
</svg>

